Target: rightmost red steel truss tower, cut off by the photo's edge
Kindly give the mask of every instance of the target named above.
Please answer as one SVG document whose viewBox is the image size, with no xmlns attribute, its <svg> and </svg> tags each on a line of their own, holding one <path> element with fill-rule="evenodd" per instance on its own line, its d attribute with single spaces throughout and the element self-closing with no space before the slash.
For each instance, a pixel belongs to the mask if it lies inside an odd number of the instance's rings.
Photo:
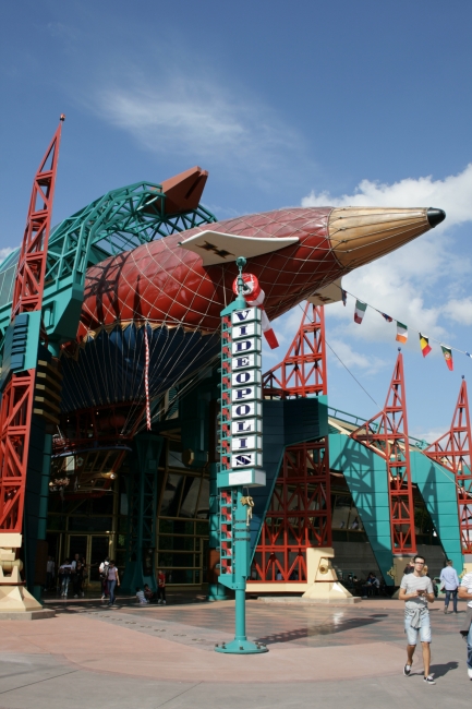
<svg viewBox="0 0 472 709">
<path fill-rule="evenodd" d="M 459 392 L 450 430 L 423 453 L 456 476 L 459 529 L 463 554 L 472 554 L 471 426 L 465 380 Z"/>
</svg>

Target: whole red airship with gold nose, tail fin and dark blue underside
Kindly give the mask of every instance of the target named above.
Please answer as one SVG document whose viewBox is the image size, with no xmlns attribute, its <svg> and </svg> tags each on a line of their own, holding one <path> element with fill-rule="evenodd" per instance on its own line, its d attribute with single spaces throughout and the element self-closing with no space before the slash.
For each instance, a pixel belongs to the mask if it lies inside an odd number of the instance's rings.
<svg viewBox="0 0 472 709">
<path fill-rule="evenodd" d="M 206 178 L 193 168 L 164 182 L 166 209 L 198 205 Z M 62 357 L 64 411 L 142 399 L 144 331 L 153 398 L 208 364 L 239 256 L 274 321 L 306 299 L 340 300 L 343 275 L 445 216 L 428 207 L 289 207 L 202 224 L 101 261 L 86 274 L 80 346 Z"/>
</svg>

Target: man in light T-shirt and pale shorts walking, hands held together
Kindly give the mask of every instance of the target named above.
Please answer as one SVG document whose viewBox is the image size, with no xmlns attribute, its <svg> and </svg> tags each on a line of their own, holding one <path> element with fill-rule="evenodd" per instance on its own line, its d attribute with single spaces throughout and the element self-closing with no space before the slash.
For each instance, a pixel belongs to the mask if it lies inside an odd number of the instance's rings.
<svg viewBox="0 0 472 709">
<path fill-rule="evenodd" d="M 413 654 L 417 644 L 417 635 L 423 648 L 424 682 L 436 684 L 429 674 L 431 664 L 431 623 L 428 603 L 434 603 L 433 584 L 428 576 L 423 576 L 424 557 L 416 554 L 414 570 L 404 574 L 400 584 L 400 601 L 404 601 L 404 632 L 407 634 L 407 664 L 403 668 L 404 676 L 411 674 Z"/>
</svg>

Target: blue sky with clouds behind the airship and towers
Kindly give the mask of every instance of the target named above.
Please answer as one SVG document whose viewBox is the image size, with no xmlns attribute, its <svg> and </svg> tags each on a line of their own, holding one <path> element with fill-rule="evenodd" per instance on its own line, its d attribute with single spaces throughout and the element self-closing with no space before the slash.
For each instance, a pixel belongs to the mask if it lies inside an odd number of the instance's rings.
<svg viewBox="0 0 472 709">
<path fill-rule="evenodd" d="M 470 0 L 23 0 L 0 22 L 0 259 L 19 245 L 59 115 L 53 223 L 110 189 L 209 171 L 218 218 L 300 205 L 433 206 L 446 221 L 344 288 L 410 327 L 409 430 L 434 440 L 472 359 Z M 370 418 L 387 395 L 395 323 L 355 299 L 326 309 L 330 405 Z M 274 323 L 280 361 L 301 317 Z M 332 353 L 336 352 L 337 357 Z M 339 361 L 339 359 L 342 363 Z M 358 383 L 358 382 L 359 383 Z"/>
</svg>

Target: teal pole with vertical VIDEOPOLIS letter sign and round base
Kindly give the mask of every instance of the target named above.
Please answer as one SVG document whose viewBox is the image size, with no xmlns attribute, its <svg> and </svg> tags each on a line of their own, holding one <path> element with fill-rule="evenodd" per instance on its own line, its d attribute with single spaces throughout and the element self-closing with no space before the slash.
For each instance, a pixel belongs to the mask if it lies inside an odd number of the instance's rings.
<svg viewBox="0 0 472 709">
<path fill-rule="evenodd" d="M 221 414 L 220 462 L 217 485 L 220 500 L 219 582 L 235 594 L 235 634 L 231 642 L 217 645 L 217 652 L 252 654 L 267 652 L 246 638 L 245 590 L 250 573 L 250 524 L 253 498 L 244 488 L 266 484 L 262 444 L 262 325 L 261 310 L 250 308 L 243 296 L 239 267 L 237 299 L 221 311 Z"/>
</svg>

